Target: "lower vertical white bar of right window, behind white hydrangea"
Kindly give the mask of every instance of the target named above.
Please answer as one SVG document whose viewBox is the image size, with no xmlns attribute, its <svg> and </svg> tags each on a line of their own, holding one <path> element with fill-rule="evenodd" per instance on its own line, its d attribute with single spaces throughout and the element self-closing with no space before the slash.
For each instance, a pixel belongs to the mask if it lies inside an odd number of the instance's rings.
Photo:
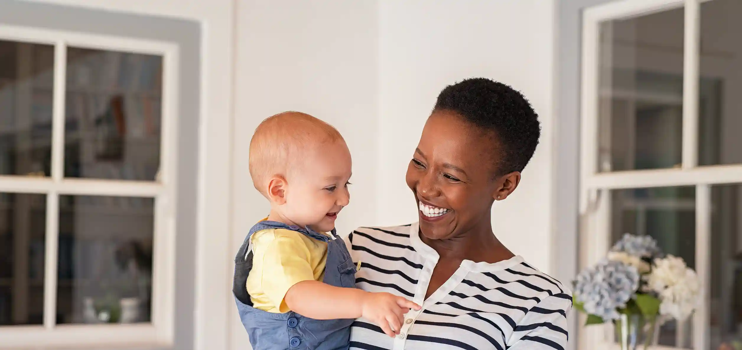
<svg viewBox="0 0 742 350">
<path fill-rule="evenodd" d="M 711 186 L 696 187 L 695 269 L 700 283 L 698 308 L 693 316 L 693 349 L 709 346 L 711 306 Z"/>
</svg>

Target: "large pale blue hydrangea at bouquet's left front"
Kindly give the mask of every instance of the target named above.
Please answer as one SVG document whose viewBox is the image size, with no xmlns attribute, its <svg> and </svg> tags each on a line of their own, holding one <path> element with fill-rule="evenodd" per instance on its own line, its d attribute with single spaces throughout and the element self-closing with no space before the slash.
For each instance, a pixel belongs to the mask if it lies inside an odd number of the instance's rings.
<svg viewBox="0 0 742 350">
<path fill-rule="evenodd" d="M 574 295 L 588 314 L 600 316 L 605 321 L 617 320 L 620 318 L 617 308 L 626 307 L 638 287 L 637 268 L 604 259 L 577 275 Z"/>
</svg>

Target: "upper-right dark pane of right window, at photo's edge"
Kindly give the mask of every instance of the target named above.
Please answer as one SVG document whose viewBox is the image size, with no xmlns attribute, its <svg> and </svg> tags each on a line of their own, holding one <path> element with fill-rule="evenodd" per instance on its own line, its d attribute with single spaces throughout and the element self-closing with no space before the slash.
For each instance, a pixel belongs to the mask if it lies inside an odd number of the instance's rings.
<svg viewBox="0 0 742 350">
<path fill-rule="evenodd" d="M 742 1 L 700 4 L 698 164 L 742 164 Z"/>
</svg>

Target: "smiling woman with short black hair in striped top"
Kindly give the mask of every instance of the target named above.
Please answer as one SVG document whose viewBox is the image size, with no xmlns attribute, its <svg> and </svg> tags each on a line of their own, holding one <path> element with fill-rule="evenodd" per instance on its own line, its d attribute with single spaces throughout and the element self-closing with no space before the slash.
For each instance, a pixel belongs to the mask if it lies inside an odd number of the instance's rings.
<svg viewBox="0 0 742 350">
<path fill-rule="evenodd" d="M 508 85 L 467 79 L 441 91 L 407 168 L 418 222 L 358 228 L 346 240 L 358 288 L 422 308 L 394 338 L 356 320 L 351 349 L 564 349 L 571 292 L 502 245 L 491 218 L 539 133 L 531 105 Z"/>
</svg>

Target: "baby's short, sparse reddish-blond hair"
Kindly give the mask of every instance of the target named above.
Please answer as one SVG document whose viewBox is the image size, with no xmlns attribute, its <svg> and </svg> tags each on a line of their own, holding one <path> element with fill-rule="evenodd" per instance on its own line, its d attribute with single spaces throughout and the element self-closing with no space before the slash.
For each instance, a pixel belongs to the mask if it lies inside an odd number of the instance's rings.
<svg viewBox="0 0 742 350">
<path fill-rule="evenodd" d="M 263 196 L 272 176 L 288 176 L 301 152 L 326 142 L 345 141 L 332 125 L 306 113 L 288 111 L 257 125 L 250 141 L 252 184 Z"/>
</svg>

